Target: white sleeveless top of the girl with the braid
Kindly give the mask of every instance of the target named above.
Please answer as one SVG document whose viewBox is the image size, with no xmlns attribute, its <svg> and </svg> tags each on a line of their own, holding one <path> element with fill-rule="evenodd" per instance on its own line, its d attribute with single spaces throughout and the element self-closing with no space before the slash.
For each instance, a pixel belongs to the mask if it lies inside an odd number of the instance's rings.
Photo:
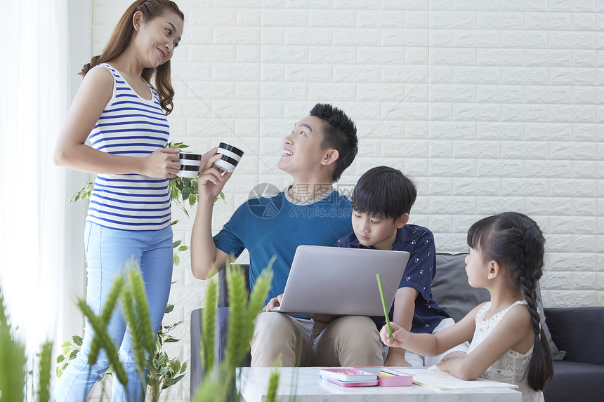
<svg viewBox="0 0 604 402">
<path fill-rule="evenodd" d="M 491 308 L 491 302 L 485 303 L 485 305 L 480 308 L 478 314 L 476 314 L 476 329 L 474 331 L 472 343 L 468 349 L 468 354 L 478 347 L 483 340 L 487 339 L 489 335 L 491 335 L 494 328 L 497 326 L 499 321 L 501 321 L 506 312 L 508 312 L 508 310 L 516 304 L 527 304 L 527 302 L 518 301 L 507 309 L 501 310 L 497 314 L 494 314 L 494 316 L 488 320 L 485 319 L 485 316 L 487 311 L 489 311 Z M 490 368 L 487 368 L 485 373 L 482 373 L 480 377 L 486 378 L 487 380 L 507 382 L 508 384 L 518 385 L 518 391 L 523 393 L 523 402 L 543 402 L 543 392 L 534 391 L 534 389 L 529 387 L 526 378 L 526 371 L 530 361 L 530 356 L 532 355 L 532 349 L 533 348 L 531 347 L 530 350 L 525 354 L 520 354 L 518 351 L 512 349 L 506 351 L 506 353 L 497 359 L 497 361 L 495 361 Z"/>
</svg>

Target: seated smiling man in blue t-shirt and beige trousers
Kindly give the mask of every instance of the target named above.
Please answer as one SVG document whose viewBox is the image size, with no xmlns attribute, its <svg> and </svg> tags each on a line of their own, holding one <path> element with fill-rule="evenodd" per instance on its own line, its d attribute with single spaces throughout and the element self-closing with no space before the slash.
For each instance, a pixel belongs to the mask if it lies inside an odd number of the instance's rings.
<svg viewBox="0 0 604 402">
<path fill-rule="evenodd" d="M 214 151 L 214 154 L 216 151 Z M 332 246 L 350 233 L 350 201 L 332 186 L 357 154 L 355 124 L 340 109 L 317 104 L 284 139 L 277 167 L 293 184 L 275 196 L 243 203 L 221 232 L 211 236 L 214 198 L 231 173 L 213 167 L 211 156 L 199 174 L 199 203 L 191 237 L 191 269 L 206 279 L 211 267 L 222 269 L 230 254 L 249 250 L 249 283 L 273 255 L 273 283 L 268 298 L 283 293 L 296 248 L 301 244 Z M 259 211 L 270 211 L 264 213 Z M 298 354 L 301 351 L 301 354 Z M 344 316 L 331 322 L 277 312 L 258 315 L 251 341 L 251 365 L 381 366 L 381 342 L 374 323 L 365 316 Z M 298 359 L 296 359 L 296 357 Z"/>
</svg>

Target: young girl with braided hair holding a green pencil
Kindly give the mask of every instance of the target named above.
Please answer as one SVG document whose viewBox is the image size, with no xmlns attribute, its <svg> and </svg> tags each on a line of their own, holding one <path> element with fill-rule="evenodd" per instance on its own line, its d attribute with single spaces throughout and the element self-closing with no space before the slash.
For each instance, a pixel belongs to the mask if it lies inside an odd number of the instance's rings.
<svg viewBox="0 0 604 402">
<path fill-rule="evenodd" d="M 491 301 L 438 334 L 409 333 L 393 324 L 393 337 L 384 326 L 381 339 L 428 356 L 472 340 L 466 356 L 444 360 L 438 368 L 462 380 L 516 384 L 523 401 L 543 401 L 541 390 L 553 369 L 535 299 L 543 274 L 541 229 L 526 215 L 501 213 L 472 225 L 468 246 L 468 283 L 489 290 Z"/>
</svg>

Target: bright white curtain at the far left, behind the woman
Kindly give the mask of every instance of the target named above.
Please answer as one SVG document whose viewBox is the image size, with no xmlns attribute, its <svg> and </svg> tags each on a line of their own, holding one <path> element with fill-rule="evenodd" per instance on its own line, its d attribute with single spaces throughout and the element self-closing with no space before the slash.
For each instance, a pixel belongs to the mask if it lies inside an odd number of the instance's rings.
<svg viewBox="0 0 604 402">
<path fill-rule="evenodd" d="M 67 0 L 1 0 L 0 286 L 29 355 L 55 340 L 64 269 Z"/>
</svg>

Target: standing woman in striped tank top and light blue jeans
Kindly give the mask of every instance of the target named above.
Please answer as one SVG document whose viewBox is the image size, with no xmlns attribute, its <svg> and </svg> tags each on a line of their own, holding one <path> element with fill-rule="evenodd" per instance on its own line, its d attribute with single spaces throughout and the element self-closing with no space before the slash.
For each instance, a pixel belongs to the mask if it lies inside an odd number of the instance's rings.
<svg viewBox="0 0 604 402">
<path fill-rule="evenodd" d="M 166 115 L 172 111 L 174 95 L 170 59 L 183 22 L 173 1 L 135 1 L 103 53 L 81 70 L 84 79 L 55 146 L 57 165 L 97 173 L 84 234 L 86 302 L 99 314 L 112 281 L 134 257 L 140 262 L 156 332 L 172 277 L 168 180 L 176 176 L 180 164 L 178 149 L 164 147 L 169 136 Z M 152 76 L 155 86 L 149 83 Z M 112 401 L 143 401 L 146 384 L 134 368 L 130 330 L 121 311 L 114 313 L 107 330 L 119 345 L 128 375 L 128 390 L 114 379 Z M 107 370 L 104 351 L 96 364 L 88 365 L 93 337 L 86 322 L 81 351 L 60 378 L 53 401 L 84 401 Z"/>
</svg>

